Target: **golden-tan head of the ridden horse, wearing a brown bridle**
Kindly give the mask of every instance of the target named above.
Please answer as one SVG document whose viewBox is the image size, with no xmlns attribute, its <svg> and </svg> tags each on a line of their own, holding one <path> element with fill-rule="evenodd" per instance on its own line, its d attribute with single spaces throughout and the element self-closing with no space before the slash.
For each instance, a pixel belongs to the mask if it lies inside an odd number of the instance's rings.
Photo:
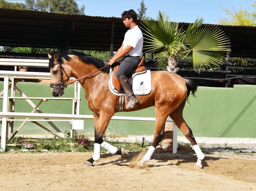
<svg viewBox="0 0 256 191">
<path fill-rule="evenodd" d="M 49 69 L 51 74 L 51 95 L 58 97 L 64 94 L 64 88 L 67 87 L 66 83 L 71 76 L 70 71 L 65 71 L 65 63 L 62 58 L 59 58 L 57 53 L 54 53 L 53 57 L 48 54 L 49 57 Z"/>
</svg>

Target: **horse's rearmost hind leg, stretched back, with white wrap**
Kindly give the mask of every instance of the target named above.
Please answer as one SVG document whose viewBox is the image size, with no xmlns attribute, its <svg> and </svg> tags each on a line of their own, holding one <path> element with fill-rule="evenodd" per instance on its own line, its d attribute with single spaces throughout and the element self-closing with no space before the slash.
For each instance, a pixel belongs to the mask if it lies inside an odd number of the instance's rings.
<svg viewBox="0 0 256 191">
<path fill-rule="evenodd" d="M 172 118 L 172 120 L 177 125 L 177 127 L 181 130 L 184 136 L 190 141 L 194 151 L 197 154 L 198 160 L 194 168 L 202 168 L 203 166 L 201 163 L 202 163 L 202 160 L 205 158 L 205 155 L 201 151 L 199 145 L 196 142 L 195 137 L 193 136 L 192 130 L 188 127 L 182 115 L 185 101 L 186 100 L 183 100 L 183 102 L 179 105 L 179 107 L 175 109 L 169 116 Z"/>
</svg>

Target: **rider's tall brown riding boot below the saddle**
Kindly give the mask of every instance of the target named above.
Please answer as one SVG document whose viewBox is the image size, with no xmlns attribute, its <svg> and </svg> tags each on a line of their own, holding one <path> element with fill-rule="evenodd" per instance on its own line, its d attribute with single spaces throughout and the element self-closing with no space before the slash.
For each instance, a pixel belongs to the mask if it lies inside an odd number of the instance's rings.
<svg viewBox="0 0 256 191">
<path fill-rule="evenodd" d="M 125 93 L 128 96 L 128 104 L 126 105 L 126 109 L 132 108 L 139 100 L 135 97 L 135 95 L 133 94 L 132 88 L 131 88 L 131 84 L 128 80 L 128 78 L 124 75 L 121 75 L 119 78 L 119 82 L 121 84 L 121 86 L 123 87 Z"/>
</svg>

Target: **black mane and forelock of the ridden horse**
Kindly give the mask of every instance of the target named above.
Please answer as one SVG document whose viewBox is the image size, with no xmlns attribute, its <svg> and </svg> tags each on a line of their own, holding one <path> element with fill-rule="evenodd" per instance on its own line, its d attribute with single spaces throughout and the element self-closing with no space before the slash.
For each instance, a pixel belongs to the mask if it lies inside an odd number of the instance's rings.
<svg viewBox="0 0 256 191">
<path fill-rule="evenodd" d="M 96 66 L 97 69 L 100 69 L 107 65 L 107 63 L 93 57 L 92 55 L 88 55 L 88 54 L 84 54 L 82 52 L 76 52 L 76 51 L 62 52 L 62 53 L 58 54 L 59 63 L 63 64 L 63 59 L 65 59 L 67 61 L 71 61 L 72 58 L 69 57 L 69 55 L 77 56 L 78 59 L 80 59 L 82 62 L 84 62 L 86 64 L 92 64 L 92 65 Z M 54 66 L 54 57 L 52 56 L 49 60 L 49 69 L 53 68 L 53 66 Z M 110 67 L 104 68 L 102 71 L 104 73 L 109 73 Z"/>
</svg>

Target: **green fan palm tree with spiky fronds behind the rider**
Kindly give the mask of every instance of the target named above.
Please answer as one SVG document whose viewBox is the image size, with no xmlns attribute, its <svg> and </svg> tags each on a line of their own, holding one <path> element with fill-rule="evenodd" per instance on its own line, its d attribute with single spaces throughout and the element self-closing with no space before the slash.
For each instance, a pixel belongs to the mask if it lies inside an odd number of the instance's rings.
<svg viewBox="0 0 256 191">
<path fill-rule="evenodd" d="M 157 53 L 156 64 L 160 69 L 176 73 L 177 59 L 192 57 L 196 71 L 219 67 L 230 51 L 229 39 L 214 25 L 203 26 L 197 18 L 186 30 L 178 22 L 171 22 L 167 13 L 158 12 L 157 20 L 142 20 L 147 53 Z"/>
</svg>

